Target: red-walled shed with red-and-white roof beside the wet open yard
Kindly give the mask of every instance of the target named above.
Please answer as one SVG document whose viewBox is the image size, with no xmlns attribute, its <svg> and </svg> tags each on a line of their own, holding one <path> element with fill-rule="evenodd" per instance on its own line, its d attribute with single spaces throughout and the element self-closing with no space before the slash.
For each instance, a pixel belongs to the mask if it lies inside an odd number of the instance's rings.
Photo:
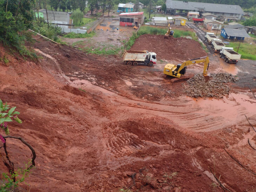
<svg viewBox="0 0 256 192">
<path fill-rule="evenodd" d="M 119 14 L 120 26 L 139 26 L 144 22 L 144 12 L 121 13 Z"/>
</svg>

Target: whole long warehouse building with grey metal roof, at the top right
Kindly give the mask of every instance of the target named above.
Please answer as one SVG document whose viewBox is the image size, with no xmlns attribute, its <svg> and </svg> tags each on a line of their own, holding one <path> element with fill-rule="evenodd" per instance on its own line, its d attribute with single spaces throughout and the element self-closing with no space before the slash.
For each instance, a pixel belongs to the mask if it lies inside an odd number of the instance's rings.
<svg viewBox="0 0 256 192">
<path fill-rule="evenodd" d="M 199 11 L 200 13 L 211 13 L 216 16 L 231 16 L 240 20 L 244 14 L 239 5 L 210 4 L 201 2 L 166 0 L 166 11 L 173 13 L 173 10 L 182 9 L 188 11 Z"/>
</svg>

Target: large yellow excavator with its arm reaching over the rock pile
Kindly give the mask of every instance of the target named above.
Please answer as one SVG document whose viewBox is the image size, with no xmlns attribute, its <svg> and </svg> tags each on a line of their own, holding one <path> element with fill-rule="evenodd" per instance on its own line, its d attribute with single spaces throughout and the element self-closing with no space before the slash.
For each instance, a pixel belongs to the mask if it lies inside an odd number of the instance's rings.
<svg viewBox="0 0 256 192">
<path fill-rule="evenodd" d="M 180 78 L 182 75 L 186 73 L 186 69 L 188 65 L 193 65 L 196 63 L 204 63 L 203 75 L 206 81 L 208 81 L 210 78 L 209 76 L 207 76 L 207 71 L 210 63 L 208 56 L 188 60 L 183 62 L 182 64 L 177 64 L 177 66 L 174 64 L 168 63 L 164 67 L 163 73 L 165 75 L 165 78 L 167 78 L 168 76 L 176 77 L 176 78 L 172 78 L 171 82 L 173 83 L 178 81 L 185 81 L 185 80 L 188 80 L 189 78 L 181 78 L 181 79 L 177 79 L 177 78 Z"/>
</svg>

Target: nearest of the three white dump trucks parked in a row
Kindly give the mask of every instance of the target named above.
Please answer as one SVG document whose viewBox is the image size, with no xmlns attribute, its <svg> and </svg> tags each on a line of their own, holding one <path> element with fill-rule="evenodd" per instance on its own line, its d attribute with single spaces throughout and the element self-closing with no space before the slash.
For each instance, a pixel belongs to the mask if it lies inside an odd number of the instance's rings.
<svg viewBox="0 0 256 192">
<path fill-rule="evenodd" d="M 227 63 L 237 63 L 241 59 L 241 55 L 236 53 L 233 47 L 222 47 L 220 57 Z"/>
</svg>

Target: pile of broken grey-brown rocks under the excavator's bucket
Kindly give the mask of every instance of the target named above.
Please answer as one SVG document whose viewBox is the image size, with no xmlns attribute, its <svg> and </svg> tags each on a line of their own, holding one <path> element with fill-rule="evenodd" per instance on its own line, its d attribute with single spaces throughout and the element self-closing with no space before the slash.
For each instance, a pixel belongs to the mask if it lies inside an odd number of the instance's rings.
<svg viewBox="0 0 256 192">
<path fill-rule="evenodd" d="M 186 94 L 190 97 L 215 97 L 221 98 L 229 94 L 229 87 L 223 83 L 235 82 L 231 74 L 211 74 L 210 80 L 205 82 L 203 74 L 197 74 L 190 78 L 185 86 Z"/>
</svg>

